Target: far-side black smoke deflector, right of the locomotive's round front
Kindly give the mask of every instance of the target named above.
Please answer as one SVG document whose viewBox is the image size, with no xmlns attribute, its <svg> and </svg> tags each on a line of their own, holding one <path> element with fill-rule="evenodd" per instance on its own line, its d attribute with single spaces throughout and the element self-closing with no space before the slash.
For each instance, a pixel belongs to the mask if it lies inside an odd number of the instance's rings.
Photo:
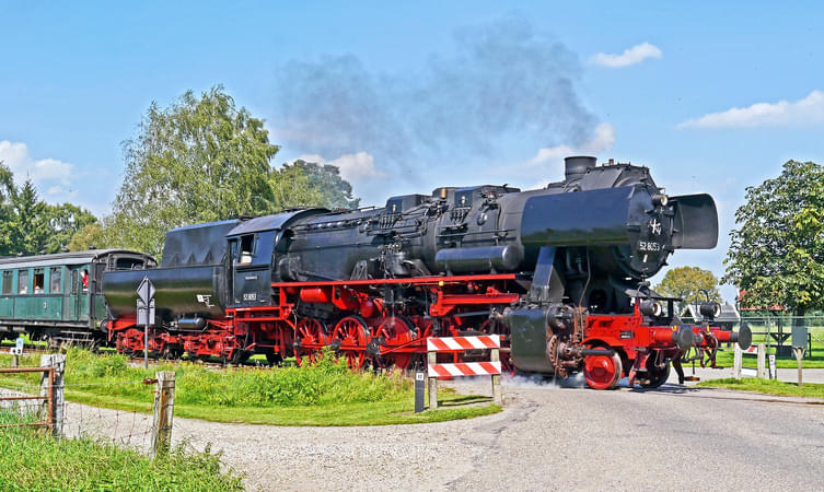
<svg viewBox="0 0 824 492">
<path fill-rule="evenodd" d="M 718 244 L 718 210 L 707 194 L 670 197 L 675 223 L 672 245 L 682 249 L 711 249 Z"/>
</svg>

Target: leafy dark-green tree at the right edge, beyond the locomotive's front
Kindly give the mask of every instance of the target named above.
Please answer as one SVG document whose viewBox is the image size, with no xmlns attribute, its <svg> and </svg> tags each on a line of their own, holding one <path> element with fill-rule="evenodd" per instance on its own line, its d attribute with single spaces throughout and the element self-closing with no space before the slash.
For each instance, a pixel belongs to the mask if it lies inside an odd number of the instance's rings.
<svg viewBox="0 0 824 492">
<path fill-rule="evenodd" d="M 745 292 L 744 307 L 824 308 L 824 167 L 788 161 L 746 188 L 735 223 L 722 281 Z"/>
</svg>

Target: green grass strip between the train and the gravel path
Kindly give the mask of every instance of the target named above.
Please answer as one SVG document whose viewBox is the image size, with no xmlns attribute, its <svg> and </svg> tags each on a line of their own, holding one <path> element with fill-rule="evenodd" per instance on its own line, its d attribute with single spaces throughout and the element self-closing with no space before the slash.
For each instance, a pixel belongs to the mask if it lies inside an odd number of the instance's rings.
<svg viewBox="0 0 824 492">
<path fill-rule="evenodd" d="M 9 365 L 0 356 L 0 365 Z M 22 359 L 34 365 L 36 358 Z M 194 363 L 162 363 L 149 370 L 119 354 L 71 349 L 67 354 L 69 401 L 151 412 L 153 385 L 140 382 L 159 371 L 175 372 L 175 415 L 216 422 L 272 425 L 385 425 L 466 419 L 500 411 L 490 398 L 443 390 L 442 409 L 414 413 L 414 385 L 398 373 L 352 373 L 332 353 L 304 367 L 216 370 Z M 0 385 L 32 390 L 39 375 L 0 376 Z M 22 384 L 28 388 L 19 387 Z"/>
</svg>

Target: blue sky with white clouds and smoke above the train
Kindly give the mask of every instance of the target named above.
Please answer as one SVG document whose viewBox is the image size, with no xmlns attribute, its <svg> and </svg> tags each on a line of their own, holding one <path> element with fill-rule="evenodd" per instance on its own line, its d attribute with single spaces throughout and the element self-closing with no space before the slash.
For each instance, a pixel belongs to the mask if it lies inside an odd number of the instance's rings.
<svg viewBox="0 0 824 492">
<path fill-rule="evenodd" d="M 148 105 L 221 83 L 274 164 L 338 163 L 368 203 L 533 187 L 567 151 L 648 165 L 713 195 L 719 247 L 671 263 L 721 274 L 744 188 L 824 163 L 824 8 L 571 3 L 0 1 L 0 160 L 105 213 Z"/>
</svg>

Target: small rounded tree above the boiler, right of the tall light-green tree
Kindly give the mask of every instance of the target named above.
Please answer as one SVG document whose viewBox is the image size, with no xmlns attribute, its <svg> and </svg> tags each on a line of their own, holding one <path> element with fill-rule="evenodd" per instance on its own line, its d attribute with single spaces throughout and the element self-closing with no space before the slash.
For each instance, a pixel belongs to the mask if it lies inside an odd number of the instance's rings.
<svg viewBox="0 0 824 492">
<path fill-rule="evenodd" d="M 359 198 L 352 197 L 352 185 L 330 164 L 302 160 L 283 164 L 272 176 L 271 186 L 281 208 L 356 209 L 360 203 Z"/>
</svg>

